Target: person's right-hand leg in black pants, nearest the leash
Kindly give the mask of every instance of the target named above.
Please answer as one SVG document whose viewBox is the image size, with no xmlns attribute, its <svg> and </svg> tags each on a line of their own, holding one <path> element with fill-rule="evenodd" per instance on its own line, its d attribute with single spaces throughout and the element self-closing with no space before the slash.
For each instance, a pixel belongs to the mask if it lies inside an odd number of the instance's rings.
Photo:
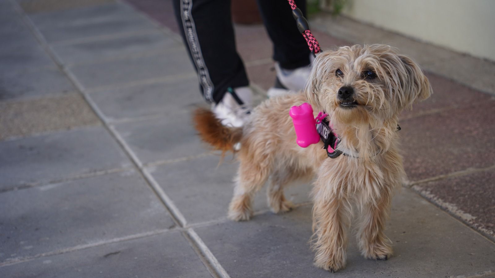
<svg viewBox="0 0 495 278">
<path fill-rule="evenodd" d="M 266 31 L 273 42 L 273 59 L 283 69 L 296 69 L 309 64 L 309 48 L 297 30 L 296 20 L 287 0 L 257 0 Z M 306 14 L 306 0 L 296 0 Z"/>
</svg>

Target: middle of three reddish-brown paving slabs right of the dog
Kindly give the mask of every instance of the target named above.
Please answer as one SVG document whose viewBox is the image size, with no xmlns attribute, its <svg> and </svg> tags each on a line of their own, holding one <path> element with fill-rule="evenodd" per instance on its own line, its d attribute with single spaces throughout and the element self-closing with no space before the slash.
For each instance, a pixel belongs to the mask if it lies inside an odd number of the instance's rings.
<svg viewBox="0 0 495 278">
<path fill-rule="evenodd" d="M 402 120 L 404 168 L 411 181 L 495 164 L 494 101 Z"/>
</svg>

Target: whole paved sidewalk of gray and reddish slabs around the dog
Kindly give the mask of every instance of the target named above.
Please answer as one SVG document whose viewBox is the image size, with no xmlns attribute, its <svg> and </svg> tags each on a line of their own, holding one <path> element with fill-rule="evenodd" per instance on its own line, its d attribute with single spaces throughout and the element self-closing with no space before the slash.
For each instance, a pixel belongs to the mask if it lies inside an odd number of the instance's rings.
<svg viewBox="0 0 495 278">
<path fill-rule="evenodd" d="M 262 192 L 251 221 L 225 218 L 237 165 L 217 168 L 189 124 L 203 100 L 170 3 L 135 4 L 146 14 L 0 0 L 0 277 L 494 276 L 491 94 L 429 73 L 434 96 L 401 121 L 411 188 L 388 222 L 394 257 L 365 260 L 349 237 L 331 274 L 312 265 L 310 185 L 286 193 L 290 213 Z M 323 46 L 355 43 L 323 26 Z M 271 45 L 262 26 L 236 32 L 261 101 Z"/>
</svg>

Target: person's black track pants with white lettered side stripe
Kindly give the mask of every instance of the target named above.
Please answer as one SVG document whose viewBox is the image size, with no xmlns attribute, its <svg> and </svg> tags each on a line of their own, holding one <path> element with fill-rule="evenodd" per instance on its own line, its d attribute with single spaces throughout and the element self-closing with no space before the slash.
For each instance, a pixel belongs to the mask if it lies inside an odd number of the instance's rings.
<svg viewBox="0 0 495 278">
<path fill-rule="evenodd" d="M 310 52 L 297 30 L 287 0 L 257 1 L 273 42 L 273 59 L 286 69 L 308 65 Z M 198 73 L 204 98 L 218 103 L 227 88 L 248 86 L 246 69 L 236 50 L 230 0 L 173 2 L 181 35 Z M 296 4 L 305 14 L 306 1 L 296 0 Z"/>
</svg>

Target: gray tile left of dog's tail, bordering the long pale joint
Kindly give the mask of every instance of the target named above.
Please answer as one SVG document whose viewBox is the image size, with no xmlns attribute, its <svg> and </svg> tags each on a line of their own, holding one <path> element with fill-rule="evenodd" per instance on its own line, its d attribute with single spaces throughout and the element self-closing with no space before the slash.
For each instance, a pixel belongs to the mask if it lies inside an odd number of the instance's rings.
<svg viewBox="0 0 495 278">
<path fill-rule="evenodd" d="M 173 117 L 115 124 L 117 132 L 143 163 L 206 152 L 191 125 L 189 111 Z"/>
</svg>

